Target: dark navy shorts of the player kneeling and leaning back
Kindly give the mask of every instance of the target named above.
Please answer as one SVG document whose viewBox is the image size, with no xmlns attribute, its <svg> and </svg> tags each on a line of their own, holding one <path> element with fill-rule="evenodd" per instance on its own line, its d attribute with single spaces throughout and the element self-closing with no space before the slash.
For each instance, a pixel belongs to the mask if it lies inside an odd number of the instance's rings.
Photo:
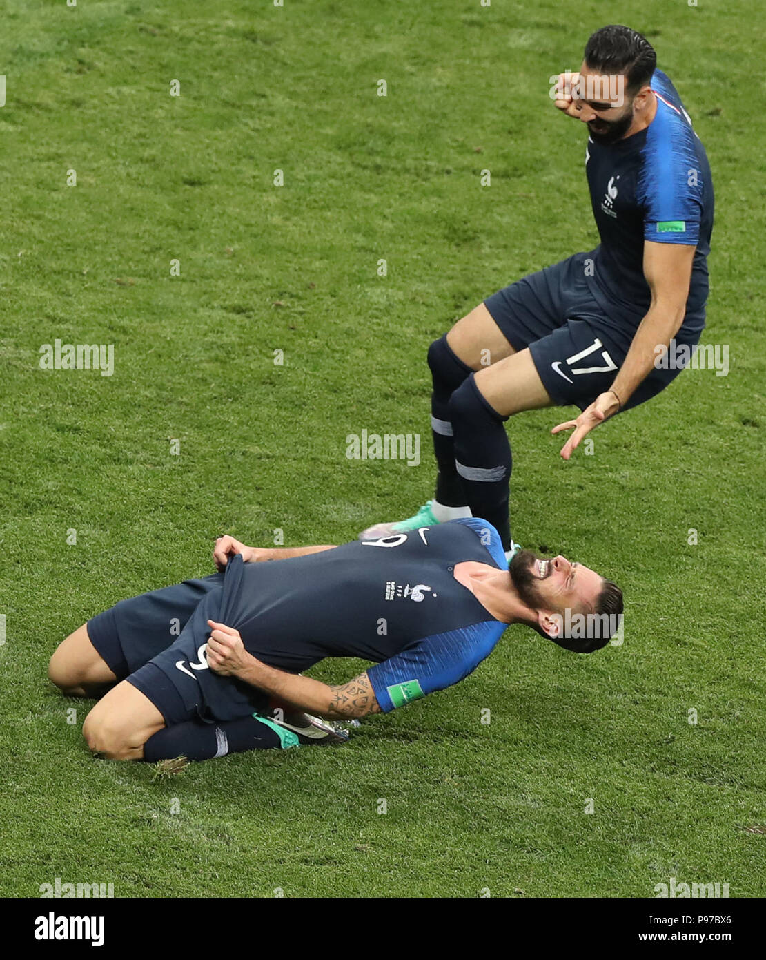
<svg viewBox="0 0 766 960">
<path fill-rule="evenodd" d="M 207 629 L 208 618 L 219 619 L 223 577 L 215 573 L 142 593 L 87 622 L 91 643 L 109 669 L 148 697 L 169 727 L 193 717 L 228 720 L 267 708 L 266 693 L 210 670 L 193 639 Z"/>
</svg>

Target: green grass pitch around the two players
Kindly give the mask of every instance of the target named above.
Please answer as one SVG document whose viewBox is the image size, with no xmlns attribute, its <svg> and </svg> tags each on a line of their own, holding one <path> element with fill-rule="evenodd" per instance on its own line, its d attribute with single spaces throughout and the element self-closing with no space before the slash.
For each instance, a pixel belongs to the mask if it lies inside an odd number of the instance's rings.
<svg viewBox="0 0 766 960">
<path fill-rule="evenodd" d="M 0 894 L 60 877 L 116 897 L 653 897 L 671 876 L 766 893 L 746 829 L 766 825 L 760 13 L 6 4 Z M 508 424 L 516 539 L 613 576 L 623 645 L 577 657 L 512 627 L 464 683 L 341 749 L 172 778 L 89 756 L 89 703 L 45 675 L 86 618 L 211 572 L 221 533 L 342 542 L 430 495 L 430 340 L 596 242 L 584 131 L 548 78 L 611 22 L 649 36 L 707 146 L 704 341 L 731 364 L 685 372 L 569 464 L 555 410 Z M 113 344 L 113 375 L 40 370 L 56 339 Z M 420 434 L 421 465 L 346 459 L 365 428 Z"/>
</svg>

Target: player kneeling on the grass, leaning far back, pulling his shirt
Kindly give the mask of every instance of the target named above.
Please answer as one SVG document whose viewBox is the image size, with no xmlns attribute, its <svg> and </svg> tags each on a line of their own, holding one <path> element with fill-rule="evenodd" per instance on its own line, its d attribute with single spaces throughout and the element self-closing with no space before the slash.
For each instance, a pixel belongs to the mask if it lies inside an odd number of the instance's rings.
<svg viewBox="0 0 766 960">
<path fill-rule="evenodd" d="M 622 613 L 619 588 L 587 566 L 531 551 L 509 566 L 497 530 L 476 518 L 337 547 L 224 537 L 214 559 L 219 573 L 123 600 L 53 655 L 50 679 L 71 696 L 116 684 L 82 727 L 95 753 L 203 760 L 317 742 L 322 725 L 274 719 L 274 702 L 329 720 L 386 713 L 458 683 L 508 624 L 590 653 L 616 628 L 568 639 L 565 623 Z M 300 675 L 326 657 L 376 665 L 333 686 Z"/>
</svg>

